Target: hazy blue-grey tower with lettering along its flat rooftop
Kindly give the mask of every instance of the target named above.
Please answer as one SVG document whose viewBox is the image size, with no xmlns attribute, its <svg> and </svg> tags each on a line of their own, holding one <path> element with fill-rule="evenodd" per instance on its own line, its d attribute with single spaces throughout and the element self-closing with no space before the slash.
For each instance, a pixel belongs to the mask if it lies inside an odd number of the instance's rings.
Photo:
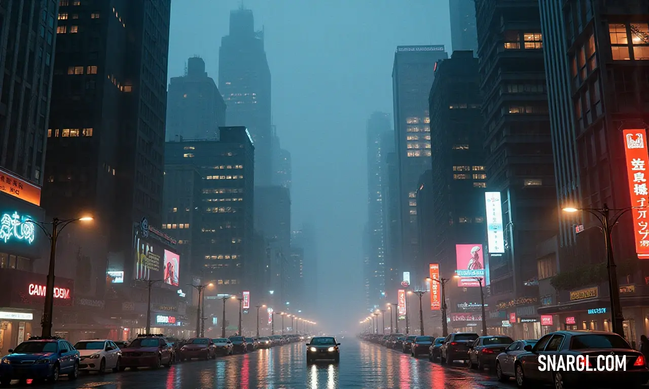
<svg viewBox="0 0 649 389">
<path fill-rule="evenodd" d="M 419 263 L 416 197 L 419 177 L 430 169 L 428 94 L 433 84 L 435 63 L 443 58 L 448 58 L 443 45 L 398 46 L 392 71 L 398 161 L 400 271 L 410 272 L 413 279 L 421 279 L 428 273 L 427 265 Z M 396 289 L 398 285 L 391 287 Z"/>
</svg>

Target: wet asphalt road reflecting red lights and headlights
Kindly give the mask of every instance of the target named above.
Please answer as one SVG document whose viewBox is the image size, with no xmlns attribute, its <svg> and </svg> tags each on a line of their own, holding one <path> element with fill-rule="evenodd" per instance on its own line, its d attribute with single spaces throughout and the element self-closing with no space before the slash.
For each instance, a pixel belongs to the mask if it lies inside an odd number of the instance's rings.
<svg viewBox="0 0 649 389">
<path fill-rule="evenodd" d="M 307 366 L 304 343 L 263 349 L 246 355 L 175 364 L 160 370 L 141 369 L 80 375 L 77 381 L 61 377 L 55 386 L 13 384 L 27 388 L 97 389 L 333 389 L 333 388 L 515 388 L 499 383 L 495 375 L 414 359 L 355 338 L 339 339 L 340 364 L 321 362 Z"/>
</svg>

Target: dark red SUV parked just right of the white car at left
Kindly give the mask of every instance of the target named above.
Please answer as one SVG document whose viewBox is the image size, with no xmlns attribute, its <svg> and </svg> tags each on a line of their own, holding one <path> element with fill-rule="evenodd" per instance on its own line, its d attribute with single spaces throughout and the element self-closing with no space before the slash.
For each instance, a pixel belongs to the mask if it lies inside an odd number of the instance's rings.
<svg viewBox="0 0 649 389">
<path fill-rule="evenodd" d="M 122 349 L 119 370 L 144 367 L 158 369 L 162 365 L 168 368 L 173 364 L 173 359 L 173 348 L 162 334 L 141 334 L 129 343 L 129 347 Z"/>
</svg>

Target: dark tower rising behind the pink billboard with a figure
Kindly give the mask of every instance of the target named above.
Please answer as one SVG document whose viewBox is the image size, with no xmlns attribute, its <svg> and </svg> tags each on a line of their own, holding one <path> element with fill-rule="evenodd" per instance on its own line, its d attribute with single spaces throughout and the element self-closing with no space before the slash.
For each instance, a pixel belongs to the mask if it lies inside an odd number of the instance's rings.
<svg viewBox="0 0 649 389">
<path fill-rule="evenodd" d="M 430 251 L 422 255 L 426 263 L 439 264 L 441 277 L 452 278 L 456 269 L 461 269 L 457 244 L 482 246 L 478 252 L 482 265 L 487 250 L 482 95 L 478 58 L 471 51 L 454 51 L 451 58 L 437 63 L 429 102 L 433 145 L 431 189 L 422 188 L 418 194 L 430 195 L 430 235 L 422 239 L 432 244 L 428 247 Z M 466 255 L 469 257 L 469 253 Z M 446 288 L 448 312 L 464 312 L 460 308 L 462 303 L 480 301 L 478 287 L 460 288 L 457 281 L 451 282 Z M 464 331 L 467 324 L 453 318 L 448 331 Z"/>
</svg>

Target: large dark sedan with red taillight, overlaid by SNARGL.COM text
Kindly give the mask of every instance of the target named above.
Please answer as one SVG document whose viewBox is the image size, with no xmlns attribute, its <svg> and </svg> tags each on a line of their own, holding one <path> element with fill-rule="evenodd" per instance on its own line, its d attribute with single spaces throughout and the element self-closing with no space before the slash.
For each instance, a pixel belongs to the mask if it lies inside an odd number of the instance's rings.
<svg viewBox="0 0 649 389">
<path fill-rule="evenodd" d="M 646 359 L 639 351 L 634 350 L 616 333 L 605 331 L 556 331 L 549 333 L 534 346 L 526 345 L 525 353 L 520 353 L 514 360 L 516 384 L 522 388 L 532 383 L 552 384 L 556 388 L 576 386 L 591 388 L 609 386 L 615 388 L 644 388 L 649 381 L 649 369 Z M 589 357 L 586 368 L 597 370 L 598 357 L 611 355 L 624 357 L 626 370 L 613 371 L 541 371 L 539 357 Z M 583 363 L 583 362 L 582 362 Z"/>
</svg>

